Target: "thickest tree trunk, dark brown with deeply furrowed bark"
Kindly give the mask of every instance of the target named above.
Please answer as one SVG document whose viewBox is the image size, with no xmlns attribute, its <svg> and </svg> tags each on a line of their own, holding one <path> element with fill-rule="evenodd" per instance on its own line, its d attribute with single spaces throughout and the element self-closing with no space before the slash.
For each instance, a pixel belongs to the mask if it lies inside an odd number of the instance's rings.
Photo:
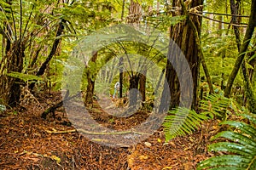
<svg viewBox="0 0 256 170">
<path fill-rule="evenodd" d="M 196 6 L 202 5 L 203 0 L 193 0 L 190 3 L 190 8 L 194 8 Z M 173 7 L 181 7 L 181 3 L 177 0 L 172 1 Z M 183 12 L 174 12 L 172 15 L 182 15 Z M 198 18 L 196 16 L 191 16 L 191 20 L 195 21 L 195 26 L 197 28 L 197 31 L 201 30 L 201 18 Z M 197 21 L 198 20 L 198 21 Z M 187 20 L 184 20 L 182 23 L 179 23 L 175 26 L 171 26 L 170 31 L 171 38 L 174 42 L 177 43 L 177 45 L 181 48 L 183 51 L 183 54 L 185 55 L 186 59 L 189 62 L 190 70 L 192 72 L 193 76 L 193 102 L 192 102 L 192 108 L 195 108 L 197 105 L 197 94 L 198 94 L 198 77 L 199 77 L 199 68 L 200 68 L 200 59 L 198 57 L 198 47 L 195 42 L 195 37 L 193 30 L 189 28 L 189 23 Z M 182 69 L 182 68 L 181 68 Z M 177 73 L 172 67 L 172 64 L 170 62 L 167 62 L 166 65 L 166 80 L 168 82 L 170 93 L 171 93 L 171 108 L 176 107 L 179 105 L 180 101 L 180 84 L 177 78 Z"/>
</svg>

